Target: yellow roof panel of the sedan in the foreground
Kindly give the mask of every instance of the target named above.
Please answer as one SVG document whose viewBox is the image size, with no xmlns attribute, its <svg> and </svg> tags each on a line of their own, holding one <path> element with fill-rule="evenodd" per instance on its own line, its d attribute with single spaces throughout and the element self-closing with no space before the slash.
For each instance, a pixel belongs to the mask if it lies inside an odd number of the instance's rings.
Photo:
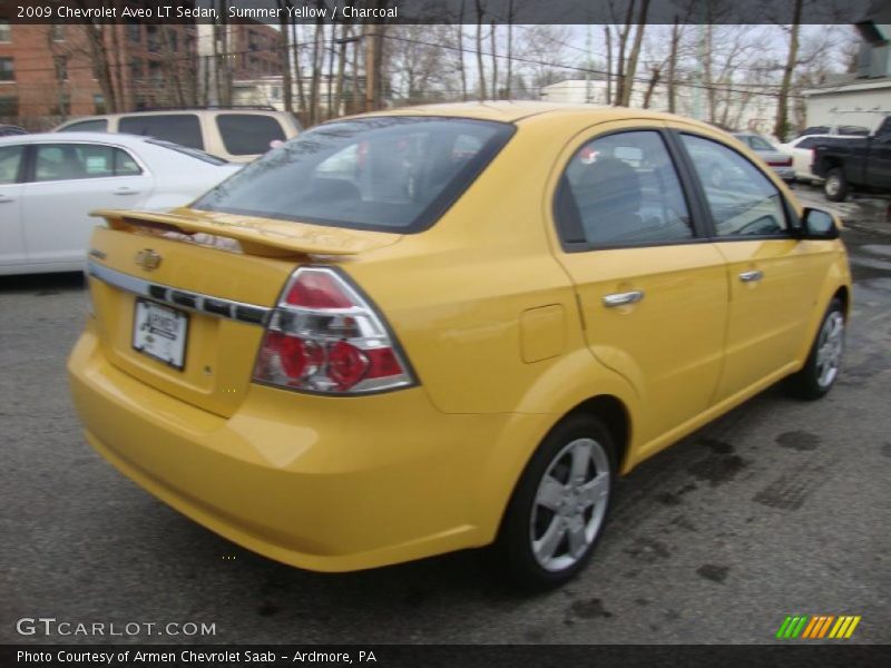
<svg viewBox="0 0 891 668">
<path fill-rule="evenodd" d="M 568 105 L 527 100 L 422 105 L 418 107 L 402 107 L 400 109 L 391 109 L 386 111 L 372 111 L 370 114 L 361 114 L 347 118 L 369 118 L 379 116 L 444 116 L 454 118 L 472 118 L 479 120 L 498 120 L 501 122 L 512 124 L 520 120 L 533 119 L 536 117 L 554 118 L 554 116 L 558 115 L 578 116 L 579 114 L 586 114 L 589 116 L 591 122 L 623 120 L 626 118 L 650 119 L 653 121 L 682 120 L 686 124 L 714 129 L 707 124 L 693 120 L 691 118 L 685 118 L 673 114 L 665 114 L 662 111 L 652 111 L 649 109 L 605 107 L 599 105 Z M 329 122 L 335 122 L 336 120 L 343 119 L 339 118 Z"/>
</svg>

